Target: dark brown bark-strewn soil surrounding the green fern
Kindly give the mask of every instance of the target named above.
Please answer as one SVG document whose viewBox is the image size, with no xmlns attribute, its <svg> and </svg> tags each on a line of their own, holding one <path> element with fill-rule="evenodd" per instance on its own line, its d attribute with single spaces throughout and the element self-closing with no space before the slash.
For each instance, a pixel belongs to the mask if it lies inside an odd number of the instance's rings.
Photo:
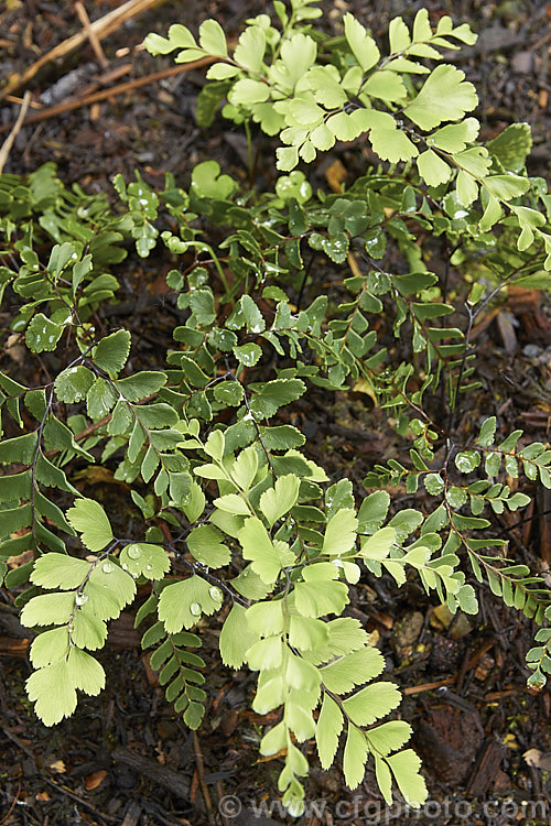
<svg viewBox="0 0 551 826">
<path fill-rule="evenodd" d="M 534 150 L 529 172 L 549 180 L 551 4 L 541 0 L 453 4 L 450 0 L 325 0 L 322 4 L 328 30 L 337 32 L 343 13 L 352 11 L 378 37 L 383 37 L 392 17 L 411 18 L 421 6 L 429 7 L 434 20 L 452 12 L 456 20 L 471 21 L 483 36 L 462 52 L 460 62 L 480 93 L 482 137 L 491 138 L 510 122 L 530 122 Z M 88 0 L 84 6 L 94 21 L 122 3 Z M 201 70 L 117 89 L 173 67 L 170 57 L 153 58 L 141 48 L 148 32 L 165 33 L 173 22 L 195 28 L 215 17 L 229 36 L 236 36 L 244 19 L 268 8 L 263 0 L 159 2 L 101 42 L 104 65 L 88 41 L 46 64 L 24 87 L 32 91 L 33 104 L 40 105 L 31 108 L 33 113 L 82 101 L 106 88 L 115 90 L 106 99 L 24 126 L 4 172 L 24 174 L 55 161 L 67 183 L 78 182 L 89 192 L 111 192 L 110 180 L 117 173 L 130 180 L 137 169 L 148 182 L 160 185 L 164 173 L 172 172 L 176 181 L 186 183 L 197 162 L 216 159 L 225 170 L 245 177 L 247 152 L 240 132 L 220 117 L 209 130 L 195 124 L 195 99 L 204 83 Z M 10 81 L 80 30 L 73 3 L 2 3 L 0 83 Z M 22 93 L 18 88 L 15 98 L 0 100 L 0 141 L 17 118 Z M 259 181 L 270 181 L 269 141 L 257 137 L 256 151 Z M 329 162 L 339 161 L 353 177 L 355 157 L 341 145 Z M 316 169 L 320 182 L 329 162 Z M 131 264 L 127 301 L 136 307 L 137 294 L 147 294 L 156 274 L 148 261 Z M 548 438 L 551 414 L 551 323 L 545 301 L 540 294 L 510 296 L 504 314 L 508 323 L 490 318 L 478 340 L 483 354 L 491 352 L 485 392 L 501 395 L 503 414 L 511 426 L 542 441 Z M 156 330 L 163 325 L 170 330 L 170 318 L 159 314 L 158 305 L 147 304 L 136 316 L 143 330 L 140 354 L 149 363 L 156 355 L 164 356 Z M 337 398 L 329 407 L 313 393 L 298 406 L 312 457 L 323 456 L 335 479 L 348 476 L 359 482 L 376 458 L 392 455 L 393 445 L 379 434 L 377 414 L 366 411 L 360 393 Z M 88 483 L 95 485 L 94 496 L 97 489 L 100 498 L 102 480 Z M 551 561 L 549 510 L 542 498 L 523 519 L 501 522 L 504 535 L 540 569 Z M 483 593 L 480 601 L 478 620 L 468 624 L 450 621 L 414 584 L 399 593 L 385 578 L 356 587 L 352 613 L 379 635 L 388 675 L 406 695 L 401 710 L 415 729 L 414 747 L 423 757 L 430 806 L 420 815 L 399 806 L 385 809 L 372 774 L 368 772 L 353 794 L 337 769 L 316 770 L 312 754 L 310 805 L 298 823 L 331 826 L 411 819 L 505 826 L 551 820 L 545 753 L 551 751 L 551 698 L 544 692 L 530 696 L 523 666 L 532 628 L 491 595 Z M 270 720 L 249 710 L 253 678 L 219 664 L 219 624 L 205 624 L 199 632 L 208 664 L 209 707 L 197 733 L 186 729 L 164 702 L 140 650 L 131 611 L 111 626 L 102 656 L 107 691 L 84 699 L 71 719 L 47 729 L 32 714 L 24 694 L 29 632 L 19 624 L 9 598 L 0 597 L 0 824 L 268 826 L 288 822 L 277 805 L 279 760 L 258 757 L 260 727 Z"/>
</svg>

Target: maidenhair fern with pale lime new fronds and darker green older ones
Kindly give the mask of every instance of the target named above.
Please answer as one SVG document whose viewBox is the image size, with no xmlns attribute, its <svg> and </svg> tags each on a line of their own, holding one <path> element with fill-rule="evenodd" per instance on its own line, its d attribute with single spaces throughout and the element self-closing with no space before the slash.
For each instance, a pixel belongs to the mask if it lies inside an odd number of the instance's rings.
<svg viewBox="0 0 551 826">
<path fill-rule="evenodd" d="M 142 648 L 191 728 L 208 700 L 201 626 L 224 618 L 223 663 L 258 673 L 258 714 L 280 709 L 260 751 L 282 756 L 291 814 L 304 807 L 306 741 L 324 769 L 343 746 L 350 789 L 371 760 L 387 803 L 396 784 L 420 806 L 411 727 L 385 719 L 400 693 L 378 680 L 383 657 L 346 616 L 350 586 L 415 576 L 452 612 L 475 615 L 477 582 L 540 626 L 528 682 L 544 686 L 551 594 L 510 558 L 493 518 L 529 503 L 511 480 L 551 487 L 551 450 L 495 416 L 471 422 L 464 444 L 455 419 L 478 387 L 477 315 L 510 284 L 551 284 L 549 196 L 526 174 L 529 128 L 477 142 L 473 85 L 453 65 L 428 65 L 474 43 L 468 26 L 444 17 L 433 30 L 425 10 L 411 29 L 397 18 L 383 55 L 349 14 L 331 41 L 312 28 L 315 0 L 274 8 L 279 23 L 249 21 L 231 54 L 215 21 L 198 40 L 175 25 L 145 41 L 180 62 L 216 58 L 198 112 L 226 99 L 223 115 L 249 137 L 255 123 L 279 137 L 273 192 L 248 191 L 214 161 L 193 170 L 187 189 L 170 175 L 162 192 L 117 176 L 112 207 L 67 191 L 51 164 L 26 180 L 0 176 L 11 329 L 31 357 L 54 352 L 62 365 L 52 377 L 40 361 L 35 387 L 0 373 L 0 576 L 21 621 L 40 630 L 28 694 L 46 725 L 74 711 L 77 692 L 104 687 L 89 652 L 140 584 Z M 381 164 L 345 192 L 314 194 L 299 159 L 359 135 Z M 461 300 L 429 270 L 426 237 L 454 250 Z M 154 370 L 137 369 L 130 330 L 97 324 L 131 246 L 142 258 L 164 247 L 173 264 L 166 283 L 182 323 Z M 331 296 L 305 263 L 324 256 L 343 276 Z M 361 494 L 347 479 L 329 483 L 280 416 L 312 387 L 367 393 L 404 439 L 407 458 L 374 464 Z M 128 486 L 130 536 L 75 487 L 95 463 Z M 423 488 L 428 507 L 397 508 L 389 486 Z M 32 561 L 8 569 L 24 552 Z"/>
</svg>

